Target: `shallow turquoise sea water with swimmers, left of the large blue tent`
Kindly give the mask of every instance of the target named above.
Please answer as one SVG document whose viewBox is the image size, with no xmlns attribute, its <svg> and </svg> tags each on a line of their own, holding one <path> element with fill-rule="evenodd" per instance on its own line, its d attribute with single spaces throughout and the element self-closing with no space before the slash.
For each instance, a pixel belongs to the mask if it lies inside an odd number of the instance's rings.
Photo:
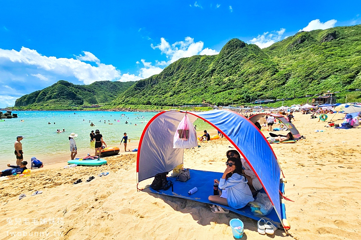
<svg viewBox="0 0 361 240">
<path fill-rule="evenodd" d="M 24 160 L 30 163 L 30 158 L 35 156 L 44 163 L 59 162 L 70 159 L 68 137 L 72 132 L 78 134 L 74 138 L 78 148 L 77 157 L 84 157 L 87 153 L 94 155 L 94 142 L 90 142 L 89 134 L 91 130 L 96 129 L 100 130 L 108 147 L 118 146 L 121 151 L 124 151 L 123 144 L 122 146 L 119 144 L 123 133 L 126 132 L 131 140 L 127 149 L 138 148 L 140 135 L 145 125 L 156 114 L 155 112 L 103 111 L 19 111 L 13 113 L 17 113 L 18 118 L 0 122 L 2 146 L 4 146 L 0 153 L 0 169 L 5 169 L 8 163 L 15 164 L 14 142 L 18 135 L 25 137 L 21 141 Z M 122 117 L 122 114 L 126 117 Z M 21 120 L 24 121 L 21 122 Z M 90 127 L 89 121 L 95 124 L 95 127 Z M 125 124 L 125 121 L 129 123 Z M 200 119 L 195 124 L 197 130 L 210 129 L 209 124 Z M 56 133 L 57 129 L 63 128 L 65 132 Z"/>
</svg>

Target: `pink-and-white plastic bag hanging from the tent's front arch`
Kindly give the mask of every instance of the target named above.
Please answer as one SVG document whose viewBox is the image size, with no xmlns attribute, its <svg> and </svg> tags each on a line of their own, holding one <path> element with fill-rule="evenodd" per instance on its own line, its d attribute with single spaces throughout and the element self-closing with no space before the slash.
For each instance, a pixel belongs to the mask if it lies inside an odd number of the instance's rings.
<svg viewBox="0 0 361 240">
<path fill-rule="evenodd" d="M 198 146 L 196 130 L 189 118 L 184 116 L 174 134 L 173 148 L 194 148 Z"/>
</svg>

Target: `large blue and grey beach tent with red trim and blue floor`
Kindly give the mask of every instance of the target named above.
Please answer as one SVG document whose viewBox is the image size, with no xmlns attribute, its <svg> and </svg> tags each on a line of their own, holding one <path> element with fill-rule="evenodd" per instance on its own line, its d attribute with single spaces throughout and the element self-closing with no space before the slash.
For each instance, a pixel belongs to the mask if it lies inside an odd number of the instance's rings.
<svg viewBox="0 0 361 240">
<path fill-rule="evenodd" d="M 156 114 L 145 126 L 139 140 L 136 164 L 137 187 L 139 182 L 154 177 L 157 173 L 169 172 L 183 163 L 184 149 L 173 148 L 173 136 L 185 114 L 192 123 L 197 118 L 209 123 L 234 145 L 260 180 L 262 191 L 269 196 L 274 208 L 267 216 L 258 217 L 252 214 L 249 206 L 241 209 L 222 207 L 256 220 L 264 218 L 278 227 L 283 227 L 282 220 L 286 219 L 286 210 L 284 204 L 280 203 L 280 193 L 284 193 L 284 182 L 280 181 L 281 169 L 277 158 L 261 131 L 247 118 L 231 110 L 214 109 L 207 112 L 169 110 Z M 208 157 L 212 157 L 212 153 Z M 223 174 L 224 169 L 219 170 L 222 172 L 191 169 L 190 180 L 173 181 L 173 192 L 171 188 L 159 191 L 146 188 L 143 191 L 212 204 L 208 196 L 213 195 L 213 180 L 221 178 Z M 193 187 L 197 187 L 197 192 L 188 195 L 188 191 Z"/>
</svg>

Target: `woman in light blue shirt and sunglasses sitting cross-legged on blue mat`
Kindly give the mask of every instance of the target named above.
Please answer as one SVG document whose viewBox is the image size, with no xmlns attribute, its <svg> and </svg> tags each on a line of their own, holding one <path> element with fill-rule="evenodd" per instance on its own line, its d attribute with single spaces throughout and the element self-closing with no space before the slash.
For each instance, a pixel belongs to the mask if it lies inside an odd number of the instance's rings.
<svg viewBox="0 0 361 240">
<path fill-rule="evenodd" d="M 222 195 L 211 195 L 208 200 L 234 209 L 243 208 L 254 199 L 247 184 L 247 178 L 242 173 L 241 160 L 229 158 L 226 165 L 227 168 L 222 178 L 214 179 L 214 183 L 217 183 L 219 189 L 222 189 Z M 219 212 L 219 210 L 215 212 Z"/>
</svg>

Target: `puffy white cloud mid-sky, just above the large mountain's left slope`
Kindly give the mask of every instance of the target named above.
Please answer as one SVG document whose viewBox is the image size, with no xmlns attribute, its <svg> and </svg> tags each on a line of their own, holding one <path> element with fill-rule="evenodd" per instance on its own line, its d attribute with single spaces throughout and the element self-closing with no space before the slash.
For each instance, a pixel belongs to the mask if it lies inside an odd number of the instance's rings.
<svg viewBox="0 0 361 240">
<path fill-rule="evenodd" d="M 175 42 L 170 45 L 164 37 L 161 38 L 160 44 L 154 46 L 151 44 L 153 49 L 161 50 L 161 54 L 165 54 L 166 58 L 169 60 L 166 64 L 171 64 L 177 61 L 180 58 L 186 58 L 194 55 L 214 55 L 218 54 L 218 51 L 213 49 L 203 49 L 204 43 L 202 41 L 194 42 L 194 39 L 191 37 L 184 38 L 184 41 Z M 157 62 L 158 65 L 166 65 L 165 61 Z"/>
</svg>

